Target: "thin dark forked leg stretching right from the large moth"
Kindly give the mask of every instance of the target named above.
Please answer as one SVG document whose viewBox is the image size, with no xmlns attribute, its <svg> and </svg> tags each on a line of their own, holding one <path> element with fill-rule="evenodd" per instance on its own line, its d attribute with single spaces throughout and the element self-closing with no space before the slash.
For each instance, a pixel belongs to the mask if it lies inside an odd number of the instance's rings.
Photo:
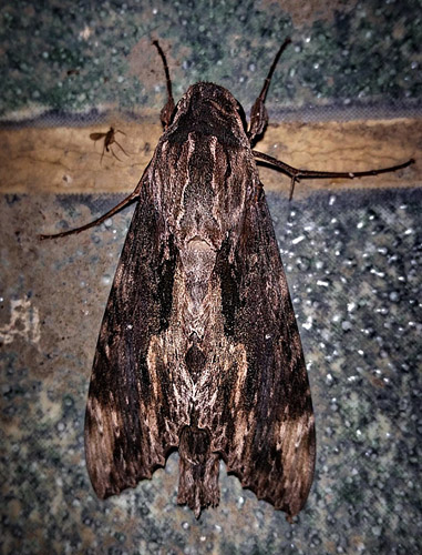
<svg viewBox="0 0 422 555">
<path fill-rule="evenodd" d="M 263 152 L 258 152 L 257 150 L 253 150 L 254 157 L 265 160 L 271 165 L 280 169 L 284 173 L 287 173 L 291 178 L 290 184 L 290 194 L 289 200 L 294 196 L 295 183 L 300 179 L 329 179 L 329 178 L 343 178 L 343 179 L 354 179 L 354 178 L 367 178 L 369 175 L 379 175 L 380 173 L 389 173 L 395 172 L 397 170 L 402 170 L 403 168 L 408 168 L 414 163 L 414 160 L 411 158 L 406 162 L 398 165 L 391 165 L 389 168 L 381 168 L 379 170 L 367 170 L 364 172 L 320 172 L 313 170 L 299 170 L 298 168 L 292 168 L 276 158 L 269 157 L 268 154 L 264 154 Z"/>
</svg>

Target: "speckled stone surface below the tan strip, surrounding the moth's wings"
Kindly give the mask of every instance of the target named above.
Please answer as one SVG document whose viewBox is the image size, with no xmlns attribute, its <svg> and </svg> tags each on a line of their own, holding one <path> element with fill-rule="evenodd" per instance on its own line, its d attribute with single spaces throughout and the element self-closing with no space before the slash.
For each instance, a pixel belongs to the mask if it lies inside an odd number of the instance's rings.
<svg viewBox="0 0 422 555">
<path fill-rule="evenodd" d="M 50 222 L 88 221 L 115 199 L 2 198 L 2 553 L 420 552 L 421 190 L 268 196 L 317 416 L 297 523 L 224 470 L 220 505 L 196 521 L 176 505 L 176 454 L 136 490 L 95 497 L 84 405 L 130 212 L 40 243 Z M 11 329 L 13 300 L 27 304 Z"/>
</svg>

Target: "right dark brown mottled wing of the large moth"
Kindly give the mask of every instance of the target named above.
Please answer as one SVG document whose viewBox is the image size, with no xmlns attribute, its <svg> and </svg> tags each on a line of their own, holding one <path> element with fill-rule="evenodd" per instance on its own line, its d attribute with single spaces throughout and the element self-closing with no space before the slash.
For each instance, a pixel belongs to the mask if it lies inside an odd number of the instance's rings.
<svg viewBox="0 0 422 555">
<path fill-rule="evenodd" d="M 218 389 L 214 450 L 244 487 L 295 516 L 312 483 L 316 438 L 302 349 L 268 206 L 245 215 L 220 276 L 225 335 L 237 350 Z M 239 354 L 240 352 L 240 354 Z"/>
</svg>

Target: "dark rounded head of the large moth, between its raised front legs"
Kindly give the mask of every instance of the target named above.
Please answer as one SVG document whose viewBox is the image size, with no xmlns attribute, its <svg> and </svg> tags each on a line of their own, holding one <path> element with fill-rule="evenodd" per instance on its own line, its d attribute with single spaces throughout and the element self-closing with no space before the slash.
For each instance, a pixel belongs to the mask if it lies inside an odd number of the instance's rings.
<svg viewBox="0 0 422 555">
<path fill-rule="evenodd" d="M 176 105 L 169 138 L 198 132 L 223 142 L 244 142 L 246 118 L 235 97 L 223 87 L 199 82 L 189 87 Z"/>
</svg>

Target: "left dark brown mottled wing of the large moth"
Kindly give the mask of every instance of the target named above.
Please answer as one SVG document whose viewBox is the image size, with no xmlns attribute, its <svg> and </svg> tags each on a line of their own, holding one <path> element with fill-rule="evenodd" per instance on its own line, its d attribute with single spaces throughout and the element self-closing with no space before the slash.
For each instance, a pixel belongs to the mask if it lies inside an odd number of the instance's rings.
<svg viewBox="0 0 422 555">
<path fill-rule="evenodd" d="M 165 332 L 176 265 L 173 238 L 148 183 L 135 210 L 100 331 L 85 415 L 92 485 L 104 498 L 151 477 L 178 444 L 177 397 L 168 373 L 147 363 L 154 335 Z"/>
</svg>

